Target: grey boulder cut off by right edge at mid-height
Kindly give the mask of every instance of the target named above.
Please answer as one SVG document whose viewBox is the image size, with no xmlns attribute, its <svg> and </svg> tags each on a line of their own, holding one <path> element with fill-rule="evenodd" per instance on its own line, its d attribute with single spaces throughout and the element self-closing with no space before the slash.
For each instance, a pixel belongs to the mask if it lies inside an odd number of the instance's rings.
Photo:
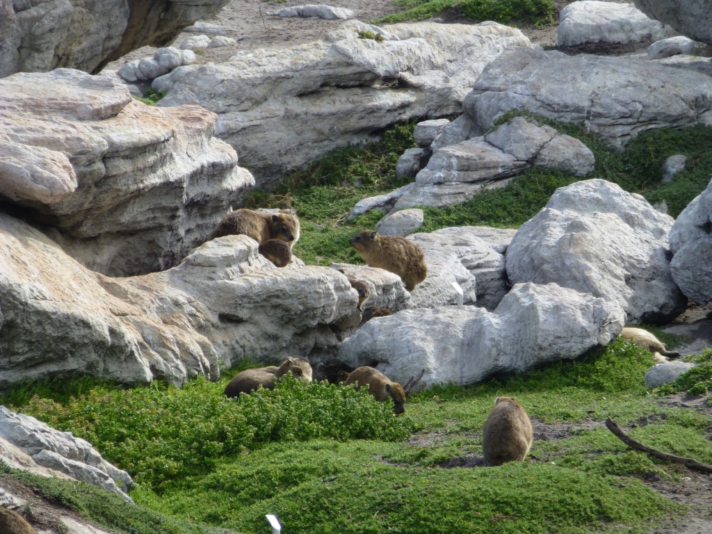
<svg viewBox="0 0 712 534">
<path fill-rule="evenodd" d="M 670 271 L 698 303 L 712 300 L 712 181 L 677 217 L 670 231 Z"/>
</svg>

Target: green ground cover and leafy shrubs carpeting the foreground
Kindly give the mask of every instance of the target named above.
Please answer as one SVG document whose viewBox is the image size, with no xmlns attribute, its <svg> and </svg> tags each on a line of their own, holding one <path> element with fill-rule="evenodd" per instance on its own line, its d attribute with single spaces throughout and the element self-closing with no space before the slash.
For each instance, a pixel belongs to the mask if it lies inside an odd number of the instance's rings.
<svg viewBox="0 0 712 534">
<path fill-rule="evenodd" d="M 61 402 L 28 398 L 25 386 L 22 395 L 0 400 L 25 399 L 11 408 L 90 439 L 129 470 L 139 482 L 132 492 L 137 523 L 184 528 L 161 532 L 260 533 L 264 515 L 276 513 L 293 533 L 644 533 L 686 508 L 642 480 L 675 481 L 679 466 L 628 449 L 604 419 L 632 427 L 629 434 L 649 446 L 712 463 L 712 417 L 661 408 L 644 384 L 650 365 L 649 352 L 616 340 L 577 361 L 426 389 L 400 416 L 390 403 L 325 382 L 286 379 L 274 391 L 226 399 L 231 373 L 180 390 L 87 390 L 88 382 L 78 381 L 77 397 L 70 384 L 54 395 Z M 43 394 L 48 389 L 38 384 Z M 441 467 L 481 455 L 481 427 L 502 394 L 516 397 L 538 425 L 575 426 L 558 439 L 535 440 L 520 464 Z M 152 461 L 159 458 L 179 470 L 160 471 Z M 60 500 L 110 526 L 106 516 L 123 505 L 99 506 L 100 491 L 86 491 Z"/>
</svg>

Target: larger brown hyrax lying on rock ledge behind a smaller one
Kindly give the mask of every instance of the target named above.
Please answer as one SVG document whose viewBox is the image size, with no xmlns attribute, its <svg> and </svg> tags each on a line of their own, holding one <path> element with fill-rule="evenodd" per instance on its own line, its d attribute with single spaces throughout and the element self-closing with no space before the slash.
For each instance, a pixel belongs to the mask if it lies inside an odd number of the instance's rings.
<svg viewBox="0 0 712 534">
<path fill-rule="evenodd" d="M 243 208 L 224 216 L 208 239 L 244 234 L 259 244 L 269 239 L 280 239 L 286 241 L 291 248 L 299 239 L 299 229 L 299 219 L 291 209 L 267 214 Z"/>
</svg>

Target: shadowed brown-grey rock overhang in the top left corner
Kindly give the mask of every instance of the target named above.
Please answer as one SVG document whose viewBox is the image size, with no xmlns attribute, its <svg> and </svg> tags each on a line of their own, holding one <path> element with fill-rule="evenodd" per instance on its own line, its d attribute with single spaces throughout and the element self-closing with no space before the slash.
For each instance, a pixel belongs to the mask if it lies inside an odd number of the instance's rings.
<svg viewBox="0 0 712 534">
<path fill-rule="evenodd" d="M 145 45 L 162 46 L 228 0 L 3 1 L 0 78 L 59 67 L 97 72 Z"/>
</svg>

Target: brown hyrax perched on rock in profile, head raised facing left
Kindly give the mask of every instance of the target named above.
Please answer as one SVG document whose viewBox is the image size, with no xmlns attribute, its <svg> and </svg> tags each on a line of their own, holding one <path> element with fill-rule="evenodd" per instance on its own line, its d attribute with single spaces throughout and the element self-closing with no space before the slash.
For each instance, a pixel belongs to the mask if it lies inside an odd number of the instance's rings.
<svg viewBox="0 0 712 534">
<path fill-rule="evenodd" d="M 379 236 L 365 230 L 349 240 L 369 267 L 396 273 L 405 288 L 412 291 L 428 276 L 425 256 L 419 246 L 400 236 Z"/>
</svg>

